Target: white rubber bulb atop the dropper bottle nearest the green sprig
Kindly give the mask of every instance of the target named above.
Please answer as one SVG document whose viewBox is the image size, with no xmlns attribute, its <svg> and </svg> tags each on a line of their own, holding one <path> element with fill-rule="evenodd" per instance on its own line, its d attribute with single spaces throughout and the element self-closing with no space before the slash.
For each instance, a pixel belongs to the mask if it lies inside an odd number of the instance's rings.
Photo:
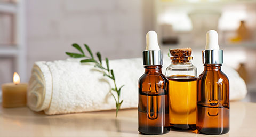
<svg viewBox="0 0 256 137">
<path fill-rule="evenodd" d="M 146 51 L 159 51 L 159 45 L 157 42 L 157 33 L 155 31 L 148 31 L 146 34 L 146 39 L 147 39 L 147 46 L 146 46 Z"/>
</svg>

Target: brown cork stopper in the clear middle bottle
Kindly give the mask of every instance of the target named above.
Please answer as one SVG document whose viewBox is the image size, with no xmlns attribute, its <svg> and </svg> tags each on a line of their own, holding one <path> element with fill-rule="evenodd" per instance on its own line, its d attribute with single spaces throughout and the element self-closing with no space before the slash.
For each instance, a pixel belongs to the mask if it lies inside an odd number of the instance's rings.
<svg viewBox="0 0 256 137">
<path fill-rule="evenodd" d="M 191 57 L 192 49 L 191 48 L 181 48 L 181 49 L 171 49 L 170 50 L 170 59 L 175 63 L 189 62 L 193 59 Z"/>
</svg>

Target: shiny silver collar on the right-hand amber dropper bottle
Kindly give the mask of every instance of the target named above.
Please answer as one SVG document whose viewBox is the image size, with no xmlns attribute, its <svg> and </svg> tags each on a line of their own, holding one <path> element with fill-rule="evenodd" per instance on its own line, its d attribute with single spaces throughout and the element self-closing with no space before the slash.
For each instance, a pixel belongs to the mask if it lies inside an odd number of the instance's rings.
<svg viewBox="0 0 256 137">
<path fill-rule="evenodd" d="M 222 64 L 223 63 L 223 50 L 204 50 L 203 63 L 204 64 Z"/>
</svg>

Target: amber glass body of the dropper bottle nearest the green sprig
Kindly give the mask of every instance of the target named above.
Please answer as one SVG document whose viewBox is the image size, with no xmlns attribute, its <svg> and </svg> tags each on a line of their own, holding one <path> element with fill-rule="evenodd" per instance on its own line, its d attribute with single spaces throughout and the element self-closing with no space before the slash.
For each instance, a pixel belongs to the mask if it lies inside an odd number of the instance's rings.
<svg viewBox="0 0 256 137">
<path fill-rule="evenodd" d="M 168 80 L 162 66 L 145 66 L 139 79 L 139 131 L 142 134 L 169 132 Z"/>
</svg>

